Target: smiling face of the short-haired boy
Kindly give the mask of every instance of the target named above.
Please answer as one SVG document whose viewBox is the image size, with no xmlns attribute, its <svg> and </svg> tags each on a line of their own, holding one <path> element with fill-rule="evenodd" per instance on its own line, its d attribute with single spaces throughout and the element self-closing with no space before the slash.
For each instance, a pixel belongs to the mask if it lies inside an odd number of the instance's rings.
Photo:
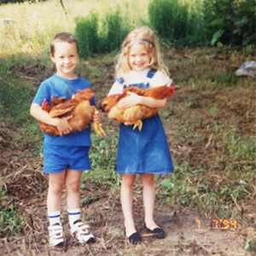
<svg viewBox="0 0 256 256">
<path fill-rule="evenodd" d="M 63 79 L 76 79 L 74 73 L 79 62 L 79 53 L 76 44 L 67 42 L 55 43 L 55 54 L 51 55 L 55 62 L 56 74 Z"/>
</svg>

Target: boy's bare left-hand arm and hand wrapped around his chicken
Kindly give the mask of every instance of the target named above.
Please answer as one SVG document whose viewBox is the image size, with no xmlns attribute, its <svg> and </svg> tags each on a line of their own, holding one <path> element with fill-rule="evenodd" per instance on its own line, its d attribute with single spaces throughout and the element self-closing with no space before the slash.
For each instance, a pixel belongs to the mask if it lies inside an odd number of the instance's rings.
<svg viewBox="0 0 256 256">
<path fill-rule="evenodd" d="M 38 121 L 46 124 L 56 126 L 60 135 L 66 135 L 72 131 L 72 127 L 69 125 L 68 120 L 73 116 L 67 116 L 65 118 L 51 118 L 49 113 L 45 112 L 40 105 L 37 103 L 32 103 L 30 108 L 30 114 L 33 118 L 38 119 Z"/>
</svg>

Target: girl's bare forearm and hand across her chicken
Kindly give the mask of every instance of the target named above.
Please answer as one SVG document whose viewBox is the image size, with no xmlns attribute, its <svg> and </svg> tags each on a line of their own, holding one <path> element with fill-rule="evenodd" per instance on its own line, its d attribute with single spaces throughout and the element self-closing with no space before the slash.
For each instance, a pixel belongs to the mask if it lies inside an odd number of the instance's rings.
<svg viewBox="0 0 256 256">
<path fill-rule="evenodd" d="M 154 100 L 151 97 L 138 96 L 135 93 L 131 93 L 131 96 L 120 100 L 118 106 L 121 108 L 129 108 L 139 104 L 149 108 L 166 108 L 167 99 L 165 98 L 163 100 Z"/>
</svg>

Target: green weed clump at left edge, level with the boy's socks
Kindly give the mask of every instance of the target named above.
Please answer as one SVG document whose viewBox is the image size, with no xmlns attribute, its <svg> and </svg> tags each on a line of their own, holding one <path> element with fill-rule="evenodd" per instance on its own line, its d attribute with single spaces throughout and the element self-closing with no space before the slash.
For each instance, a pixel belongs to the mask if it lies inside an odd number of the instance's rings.
<svg viewBox="0 0 256 256">
<path fill-rule="evenodd" d="M 21 233 L 22 218 L 17 217 L 13 204 L 2 207 L 3 187 L 0 187 L 0 237 L 19 236 Z"/>
</svg>

